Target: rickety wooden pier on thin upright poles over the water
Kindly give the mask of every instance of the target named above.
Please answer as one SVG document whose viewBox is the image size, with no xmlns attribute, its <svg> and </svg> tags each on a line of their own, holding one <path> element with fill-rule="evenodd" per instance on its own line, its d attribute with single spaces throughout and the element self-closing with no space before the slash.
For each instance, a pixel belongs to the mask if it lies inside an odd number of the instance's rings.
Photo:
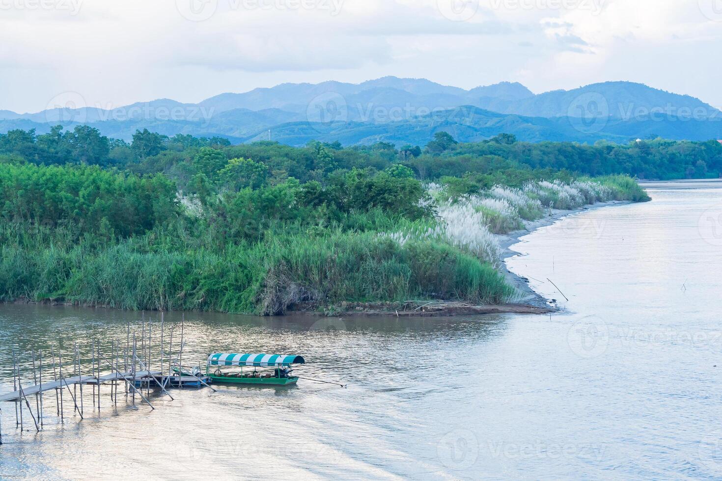
<svg viewBox="0 0 722 481">
<path fill-rule="evenodd" d="M 183 324 L 181 321 L 180 325 L 165 326 L 161 314 L 160 325 L 154 327 L 143 316 L 139 333 L 131 332 L 128 324 L 121 339 L 73 343 L 70 356 L 68 349 L 63 352 L 59 345 L 51 348 L 50 356 L 47 352 L 43 356 L 43 351 L 36 354 L 35 350 L 13 352 L 13 391 L 0 394 L 0 403 L 14 403 L 16 428 L 25 431 L 27 421 L 32 419 L 32 428 L 37 432 L 43 430 L 45 419 L 53 415 L 45 412 L 48 396 L 55 401 L 53 411 L 61 423 L 68 417 L 65 412 L 68 403 L 72 405 L 72 414 L 79 415 L 81 420 L 89 408 L 100 412 L 101 388 L 109 394 L 113 406 L 118 405 L 121 395 L 124 402 L 133 404 L 137 396 L 154 410 L 149 400 L 152 389 L 173 400 L 166 387 L 183 388 L 184 379 L 188 379 L 186 375 L 174 375 L 174 369 L 185 371 L 181 365 L 185 347 Z M 170 332 L 166 332 L 168 330 Z M 178 330 L 180 342 L 173 352 L 173 335 Z M 193 384 L 200 382 L 207 386 L 202 379 L 192 374 L 190 377 L 194 378 Z M 89 394 L 92 394 L 92 404 L 87 400 Z M 25 420 L 24 413 L 30 415 L 30 419 Z M 0 409 L 0 445 L 3 444 L 2 414 Z"/>
</svg>

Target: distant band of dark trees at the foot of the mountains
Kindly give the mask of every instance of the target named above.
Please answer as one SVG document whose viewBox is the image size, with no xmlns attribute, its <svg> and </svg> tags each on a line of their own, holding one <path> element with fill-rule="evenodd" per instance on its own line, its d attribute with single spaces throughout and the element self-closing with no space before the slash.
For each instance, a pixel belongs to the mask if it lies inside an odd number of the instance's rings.
<svg viewBox="0 0 722 481">
<path fill-rule="evenodd" d="M 274 142 L 231 146 L 225 138 L 195 138 L 137 131 L 133 141 L 107 138 L 87 125 L 50 133 L 9 131 L 0 134 L 0 158 L 4 162 L 24 159 L 40 165 L 88 164 L 128 169 L 136 174 L 164 172 L 183 181 L 197 169 L 190 166 L 199 150 L 209 147 L 227 159 L 253 159 L 263 164 L 266 179 L 279 182 L 294 177 L 300 182 L 318 180 L 335 169 L 373 167 L 383 170 L 403 164 L 420 180 L 444 175 L 492 175 L 520 169 L 538 177 L 540 170 L 568 171 L 579 175 L 625 174 L 640 179 L 709 178 L 722 175 L 722 144 L 718 141 L 640 140 L 626 145 L 598 142 L 590 146 L 569 142 L 518 142 L 509 134 L 489 141 L 459 144 L 448 133 L 439 132 L 429 144 L 402 146 L 380 142 L 370 146 L 342 148 L 341 144 L 310 142 L 294 148 Z M 207 172 L 206 172 L 207 174 Z M 493 178 L 490 179 L 493 181 Z"/>
</svg>

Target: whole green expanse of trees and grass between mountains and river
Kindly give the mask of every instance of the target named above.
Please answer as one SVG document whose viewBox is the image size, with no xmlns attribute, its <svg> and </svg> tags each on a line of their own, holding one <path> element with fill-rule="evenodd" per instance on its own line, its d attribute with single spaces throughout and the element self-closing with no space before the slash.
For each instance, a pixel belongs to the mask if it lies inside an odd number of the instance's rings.
<svg viewBox="0 0 722 481">
<path fill-rule="evenodd" d="M 549 208 L 646 200 L 612 174 L 710 175 L 720 159 L 716 142 L 458 144 L 440 132 L 423 148 L 343 149 L 11 131 L 0 136 L 0 298 L 258 314 L 499 304 L 515 292 L 493 234 Z"/>
</svg>

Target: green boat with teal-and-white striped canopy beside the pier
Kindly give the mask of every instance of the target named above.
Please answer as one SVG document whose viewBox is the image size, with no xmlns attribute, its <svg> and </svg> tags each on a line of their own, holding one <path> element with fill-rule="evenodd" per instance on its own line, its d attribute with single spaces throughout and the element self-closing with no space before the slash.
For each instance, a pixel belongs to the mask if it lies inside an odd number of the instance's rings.
<svg viewBox="0 0 722 481">
<path fill-rule="evenodd" d="M 305 362 L 302 356 L 297 355 L 214 353 L 208 356 L 206 376 L 214 383 L 222 384 L 290 386 L 299 379 L 293 376 L 292 366 Z"/>
</svg>

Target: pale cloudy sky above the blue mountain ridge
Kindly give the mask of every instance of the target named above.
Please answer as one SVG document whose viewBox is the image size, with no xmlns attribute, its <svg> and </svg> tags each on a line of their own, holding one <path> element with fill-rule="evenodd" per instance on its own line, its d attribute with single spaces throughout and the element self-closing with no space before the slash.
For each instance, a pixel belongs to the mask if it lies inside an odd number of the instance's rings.
<svg viewBox="0 0 722 481">
<path fill-rule="evenodd" d="M 0 110 L 381 76 L 627 80 L 722 107 L 722 0 L 0 0 Z"/>
</svg>

